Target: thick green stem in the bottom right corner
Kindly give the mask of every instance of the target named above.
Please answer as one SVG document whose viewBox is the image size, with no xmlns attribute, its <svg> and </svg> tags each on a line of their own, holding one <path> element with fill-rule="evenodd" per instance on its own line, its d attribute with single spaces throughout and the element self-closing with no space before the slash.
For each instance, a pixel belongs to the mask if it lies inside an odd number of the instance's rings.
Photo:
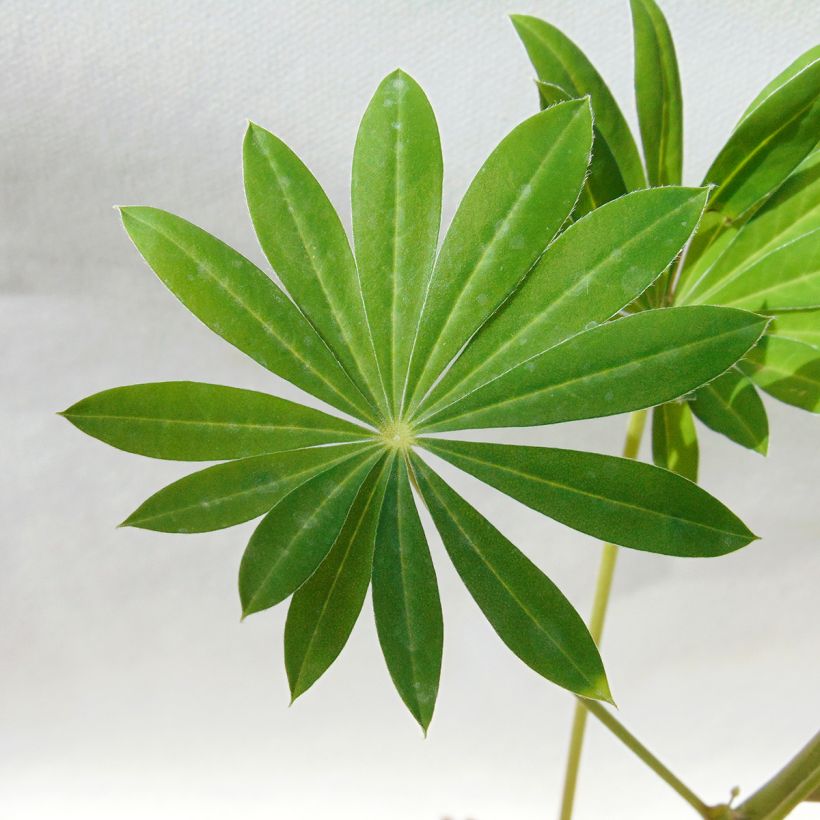
<svg viewBox="0 0 820 820">
<path fill-rule="evenodd" d="M 781 820 L 820 788 L 820 732 L 737 807 L 742 820 Z"/>
</svg>

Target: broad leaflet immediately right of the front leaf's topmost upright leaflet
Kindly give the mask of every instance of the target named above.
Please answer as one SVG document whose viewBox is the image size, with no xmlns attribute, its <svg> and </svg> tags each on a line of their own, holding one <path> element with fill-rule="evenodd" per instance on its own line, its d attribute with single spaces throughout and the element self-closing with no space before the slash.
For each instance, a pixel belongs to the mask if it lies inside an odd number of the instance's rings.
<svg viewBox="0 0 820 820">
<path fill-rule="evenodd" d="M 591 145 L 588 101 L 561 103 L 514 128 L 476 174 L 425 297 L 408 379 L 411 411 L 561 228 Z"/>
</svg>

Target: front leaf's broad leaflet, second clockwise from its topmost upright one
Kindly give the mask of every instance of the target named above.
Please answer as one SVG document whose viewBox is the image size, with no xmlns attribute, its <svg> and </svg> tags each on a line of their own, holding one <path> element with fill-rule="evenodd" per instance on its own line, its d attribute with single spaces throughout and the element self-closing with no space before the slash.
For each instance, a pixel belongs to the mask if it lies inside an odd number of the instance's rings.
<svg viewBox="0 0 820 820">
<path fill-rule="evenodd" d="M 707 193 L 636 191 L 565 230 L 521 287 L 484 325 L 433 389 L 433 414 L 590 325 L 605 322 L 643 292 L 677 256 Z"/>
</svg>

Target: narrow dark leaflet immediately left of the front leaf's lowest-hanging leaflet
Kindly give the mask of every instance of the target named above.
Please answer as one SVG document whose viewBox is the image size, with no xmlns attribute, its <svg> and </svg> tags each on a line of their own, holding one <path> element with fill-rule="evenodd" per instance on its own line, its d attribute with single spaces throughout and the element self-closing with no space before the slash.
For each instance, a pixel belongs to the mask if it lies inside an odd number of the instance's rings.
<svg viewBox="0 0 820 820">
<path fill-rule="evenodd" d="M 359 617 L 395 456 L 383 456 L 359 489 L 327 558 L 294 594 L 285 622 L 285 667 L 293 700 L 336 660 Z"/>
</svg>

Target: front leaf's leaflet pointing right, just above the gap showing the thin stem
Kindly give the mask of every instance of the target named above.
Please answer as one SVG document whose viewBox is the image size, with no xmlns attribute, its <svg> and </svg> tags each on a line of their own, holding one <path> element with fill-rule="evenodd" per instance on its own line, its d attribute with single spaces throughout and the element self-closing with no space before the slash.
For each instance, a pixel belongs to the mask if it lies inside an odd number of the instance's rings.
<svg viewBox="0 0 820 820">
<path fill-rule="evenodd" d="M 708 305 L 637 313 L 573 336 L 419 426 L 529 427 L 653 407 L 719 376 L 766 324 L 746 311 Z"/>
</svg>

